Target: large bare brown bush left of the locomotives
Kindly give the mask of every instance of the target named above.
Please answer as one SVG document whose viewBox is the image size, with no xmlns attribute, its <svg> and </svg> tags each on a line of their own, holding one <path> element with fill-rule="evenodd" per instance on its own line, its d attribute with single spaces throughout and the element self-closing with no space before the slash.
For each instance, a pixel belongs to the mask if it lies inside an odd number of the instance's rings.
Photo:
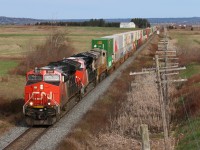
<svg viewBox="0 0 200 150">
<path fill-rule="evenodd" d="M 49 36 L 43 45 L 38 45 L 27 53 L 25 59 L 15 70 L 18 74 L 24 75 L 34 67 L 47 65 L 49 62 L 58 61 L 64 57 L 69 57 L 74 53 L 70 41 L 65 38 L 64 33 L 56 31 Z"/>
</svg>

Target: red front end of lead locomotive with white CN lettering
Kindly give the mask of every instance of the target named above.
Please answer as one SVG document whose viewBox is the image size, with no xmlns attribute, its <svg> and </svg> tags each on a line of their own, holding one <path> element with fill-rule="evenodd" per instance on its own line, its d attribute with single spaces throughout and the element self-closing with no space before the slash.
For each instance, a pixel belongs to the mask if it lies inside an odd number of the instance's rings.
<svg viewBox="0 0 200 150">
<path fill-rule="evenodd" d="M 23 113 L 27 124 L 52 124 L 60 114 L 61 73 L 50 68 L 36 68 L 27 73 L 26 79 Z"/>
</svg>

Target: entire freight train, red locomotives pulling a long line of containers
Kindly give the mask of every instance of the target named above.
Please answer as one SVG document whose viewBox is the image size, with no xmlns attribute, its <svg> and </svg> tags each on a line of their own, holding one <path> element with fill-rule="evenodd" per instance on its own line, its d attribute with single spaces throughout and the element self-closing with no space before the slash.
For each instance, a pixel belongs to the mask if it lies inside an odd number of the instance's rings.
<svg viewBox="0 0 200 150">
<path fill-rule="evenodd" d="M 27 72 L 23 113 L 28 125 L 52 125 L 156 31 L 156 27 L 93 39 L 91 50 Z"/>
</svg>

